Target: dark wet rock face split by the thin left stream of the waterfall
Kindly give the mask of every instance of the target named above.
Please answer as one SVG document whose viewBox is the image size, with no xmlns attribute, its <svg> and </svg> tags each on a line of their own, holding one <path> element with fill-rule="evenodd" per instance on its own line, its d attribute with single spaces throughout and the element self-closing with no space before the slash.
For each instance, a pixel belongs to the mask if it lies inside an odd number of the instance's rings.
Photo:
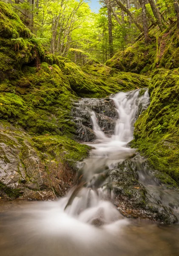
<svg viewBox="0 0 179 256">
<path fill-rule="evenodd" d="M 95 112 L 97 123 L 106 136 L 114 134 L 118 114 L 114 102 L 105 99 L 81 99 L 74 102 L 72 116 L 76 123 L 76 138 L 82 142 L 91 142 L 96 139 L 92 130 L 91 111 Z"/>
</svg>

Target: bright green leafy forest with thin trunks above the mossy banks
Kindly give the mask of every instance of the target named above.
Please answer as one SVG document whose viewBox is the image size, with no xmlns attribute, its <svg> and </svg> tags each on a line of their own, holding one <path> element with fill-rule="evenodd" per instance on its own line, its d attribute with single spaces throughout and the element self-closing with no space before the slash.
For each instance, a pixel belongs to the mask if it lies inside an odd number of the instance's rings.
<svg viewBox="0 0 179 256">
<path fill-rule="evenodd" d="M 88 0 L 25 0 L 12 5 L 49 52 L 84 65 L 88 59 L 104 64 L 116 52 L 139 40 L 142 33 L 149 43 L 150 30 L 157 26 L 164 31 L 178 14 L 178 3 L 173 0 L 125 2 L 100 1 L 98 13 L 91 11 Z"/>
</svg>

